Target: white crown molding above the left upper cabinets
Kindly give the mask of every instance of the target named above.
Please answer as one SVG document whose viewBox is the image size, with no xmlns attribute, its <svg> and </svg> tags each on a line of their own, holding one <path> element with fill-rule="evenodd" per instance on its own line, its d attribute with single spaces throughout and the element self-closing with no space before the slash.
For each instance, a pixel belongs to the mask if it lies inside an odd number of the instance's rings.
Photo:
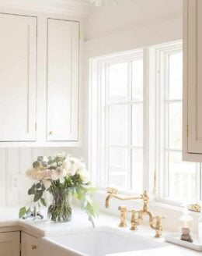
<svg viewBox="0 0 202 256">
<path fill-rule="evenodd" d="M 89 15 L 90 5 L 86 0 L 0 0 L 0 12 L 4 12 L 6 8 L 54 12 L 84 18 Z"/>
</svg>

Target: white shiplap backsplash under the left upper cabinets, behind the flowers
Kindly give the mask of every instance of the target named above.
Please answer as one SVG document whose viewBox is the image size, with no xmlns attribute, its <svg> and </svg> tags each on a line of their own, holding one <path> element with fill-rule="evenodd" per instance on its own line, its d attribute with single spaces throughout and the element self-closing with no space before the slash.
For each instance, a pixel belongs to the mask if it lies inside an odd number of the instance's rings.
<svg viewBox="0 0 202 256">
<path fill-rule="evenodd" d="M 27 190 L 33 183 L 25 172 L 39 155 L 67 152 L 82 158 L 81 148 L 0 148 L 0 206 L 19 206 L 30 201 Z"/>
</svg>

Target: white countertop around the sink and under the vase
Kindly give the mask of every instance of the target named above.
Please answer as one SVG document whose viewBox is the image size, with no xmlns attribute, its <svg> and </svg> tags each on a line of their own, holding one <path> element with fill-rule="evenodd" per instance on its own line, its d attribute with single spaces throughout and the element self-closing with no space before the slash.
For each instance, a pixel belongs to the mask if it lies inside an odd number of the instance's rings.
<svg viewBox="0 0 202 256">
<path fill-rule="evenodd" d="M 62 233 L 69 233 L 71 230 L 78 227 L 91 226 L 87 215 L 79 209 L 73 210 L 71 222 L 66 223 L 54 223 L 50 222 L 46 218 L 44 218 L 44 220 L 18 219 L 18 211 L 18 208 L 0 208 L 0 230 L 5 227 L 12 228 L 13 226 L 17 226 L 19 227 L 19 230 L 25 230 L 26 232 L 30 231 L 30 233 L 36 233 L 38 236 L 55 236 L 57 234 L 61 235 Z M 44 215 L 46 215 L 45 212 Z M 99 215 L 99 218 L 96 219 L 96 226 L 117 227 L 118 222 L 119 220 L 116 217 L 102 213 Z M 133 234 L 138 234 L 139 236 L 144 236 L 144 239 L 147 240 L 155 240 L 159 243 L 164 242 L 163 238 L 154 238 L 155 230 L 151 229 L 147 225 L 139 226 L 136 231 L 130 231 L 128 227 L 117 229 L 130 233 L 131 236 L 133 236 Z M 201 252 L 168 243 L 168 247 L 160 247 L 144 251 L 124 252 L 116 254 L 116 256 L 199 256 L 201 254 Z M 115 256 L 115 254 L 113 254 L 113 256 Z"/>
</svg>

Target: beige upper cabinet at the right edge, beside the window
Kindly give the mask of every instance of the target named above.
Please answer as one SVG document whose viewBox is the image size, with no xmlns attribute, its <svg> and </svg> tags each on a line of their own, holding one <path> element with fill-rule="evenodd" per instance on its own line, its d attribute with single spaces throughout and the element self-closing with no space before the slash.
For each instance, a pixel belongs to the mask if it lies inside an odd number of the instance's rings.
<svg viewBox="0 0 202 256">
<path fill-rule="evenodd" d="M 202 162 L 202 1 L 183 4 L 183 159 Z"/>
</svg>

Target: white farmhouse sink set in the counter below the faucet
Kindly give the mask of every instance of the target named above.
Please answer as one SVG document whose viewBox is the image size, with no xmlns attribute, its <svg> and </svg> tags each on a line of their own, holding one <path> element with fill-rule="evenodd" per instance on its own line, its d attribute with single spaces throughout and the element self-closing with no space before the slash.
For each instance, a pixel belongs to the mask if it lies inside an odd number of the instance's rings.
<svg viewBox="0 0 202 256">
<path fill-rule="evenodd" d="M 104 256 L 162 247 L 164 244 L 110 227 L 74 229 L 65 235 L 43 239 L 44 256 Z"/>
</svg>

